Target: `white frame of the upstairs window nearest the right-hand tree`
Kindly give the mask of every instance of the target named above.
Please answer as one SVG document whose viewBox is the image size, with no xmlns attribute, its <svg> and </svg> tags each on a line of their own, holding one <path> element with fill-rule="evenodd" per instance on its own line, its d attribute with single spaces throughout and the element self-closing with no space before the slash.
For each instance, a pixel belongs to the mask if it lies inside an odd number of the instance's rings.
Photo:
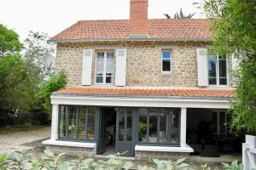
<svg viewBox="0 0 256 170">
<path fill-rule="evenodd" d="M 227 71 L 227 84 L 223 85 L 223 84 L 219 84 L 219 67 L 218 67 L 218 54 L 216 55 L 216 84 L 210 84 L 209 83 L 209 67 L 208 67 L 208 62 L 209 62 L 209 58 L 207 59 L 207 74 L 208 74 L 208 84 L 209 87 L 228 87 L 229 86 L 229 61 L 228 61 L 228 55 L 225 56 L 226 57 L 226 71 Z"/>
</svg>

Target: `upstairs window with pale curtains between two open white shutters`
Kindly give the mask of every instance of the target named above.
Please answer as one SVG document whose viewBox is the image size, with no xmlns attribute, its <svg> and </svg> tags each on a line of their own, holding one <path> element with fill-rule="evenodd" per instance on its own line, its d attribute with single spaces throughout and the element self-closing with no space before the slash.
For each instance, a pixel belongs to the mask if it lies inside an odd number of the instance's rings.
<svg viewBox="0 0 256 170">
<path fill-rule="evenodd" d="M 113 52 L 96 53 L 96 83 L 113 82 Z"/>
</svg>

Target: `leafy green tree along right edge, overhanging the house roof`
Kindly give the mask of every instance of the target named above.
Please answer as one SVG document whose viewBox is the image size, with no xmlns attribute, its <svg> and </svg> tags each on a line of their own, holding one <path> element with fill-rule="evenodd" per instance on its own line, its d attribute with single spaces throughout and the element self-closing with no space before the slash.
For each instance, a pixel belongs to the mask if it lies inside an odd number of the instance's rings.
<svg viewBox="0 0 256 170">
<path fill-rule="evenodd" d="M 230 127 L 256 133 L 256 1 L 205 0 L 203 8 L 212 23 L 209 53 L 234 54 L 239 61 Z"/>
</svg>

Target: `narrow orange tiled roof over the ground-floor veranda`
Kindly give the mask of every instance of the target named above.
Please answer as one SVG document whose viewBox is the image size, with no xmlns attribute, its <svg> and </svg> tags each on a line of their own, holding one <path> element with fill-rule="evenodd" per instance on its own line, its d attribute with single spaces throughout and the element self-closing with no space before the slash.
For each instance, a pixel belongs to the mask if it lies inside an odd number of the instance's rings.
<svg viewBox="0 0 256 170">
<path fill-rule="evenodd" d="M 219 89 L 137 89 L 137 88 L 66 88 L 54 94 L 90 94 L 90 95 L 121 95 L 121 96 L 187 96 L 234 98 L 233 90 Z"/>
</svg>

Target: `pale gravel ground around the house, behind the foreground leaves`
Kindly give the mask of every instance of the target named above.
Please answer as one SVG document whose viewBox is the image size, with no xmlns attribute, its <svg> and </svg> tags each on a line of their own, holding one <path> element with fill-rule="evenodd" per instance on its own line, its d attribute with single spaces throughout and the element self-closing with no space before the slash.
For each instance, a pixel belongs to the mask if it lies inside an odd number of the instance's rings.
<svg viewBox="0 0 256 170">
<path fill-rule="evenodd" d="M 3 152 L 13 152 L 15 150 L 26 150 L 33 152 L 37 157 L 44 155 L 45 147 L 42 141 L 49 139 L 50 127 L 43 127 L 37 130 L 29 130 L 23 132 L 0 132 L 0 154 Z M 72 160 L 74 156 L 66 156 L 65 160 Z M 223 155 L 220 157 L 201 157 L 190 156 L 186 162 L 195 169 L 201 169 L 201 165 L 207 163 L 210 167 L 221 167 L 221 162 L 231 162 L 234 160 L 241 161 L 241 154 Z M 155 167 L 152 161 L 132 161 L 134 167 L 137 165 L 148 165 Z M 136 169 L 136 168 L 135 168 Z"/>
</svg>

